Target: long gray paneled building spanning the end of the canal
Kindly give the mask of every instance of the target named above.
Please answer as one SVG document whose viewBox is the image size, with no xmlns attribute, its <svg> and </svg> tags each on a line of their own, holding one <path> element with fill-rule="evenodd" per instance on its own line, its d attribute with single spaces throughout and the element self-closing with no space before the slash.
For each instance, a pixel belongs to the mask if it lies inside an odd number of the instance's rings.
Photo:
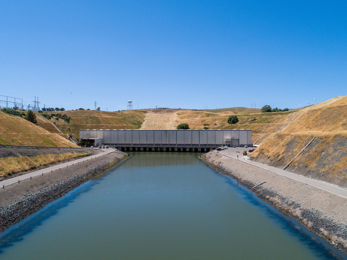
<svg viewBox="0 0 347 260">
<path fill-rule="evenodd" d="M 80 130 L 80 139 L 124 151 L 209 151 L 252 146 L 252 130 Z"/>
</svg>

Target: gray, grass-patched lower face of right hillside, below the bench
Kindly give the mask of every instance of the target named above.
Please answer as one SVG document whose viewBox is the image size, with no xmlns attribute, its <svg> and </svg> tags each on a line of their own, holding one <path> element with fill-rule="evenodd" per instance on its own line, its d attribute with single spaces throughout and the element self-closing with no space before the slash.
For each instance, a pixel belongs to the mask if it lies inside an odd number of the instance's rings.
<svg viewBox="0 0 347 260">
<path fill-rule="evenodd" d="M 273 140 L 272 153 L 260 146 L 252 158 L 259 163 L 283 168 L 312 138 L 313 136 L 279 135 Z M 340 135 L 315 137 L 286 171 L 347 187 L 347 138 Z"/>
</svg>

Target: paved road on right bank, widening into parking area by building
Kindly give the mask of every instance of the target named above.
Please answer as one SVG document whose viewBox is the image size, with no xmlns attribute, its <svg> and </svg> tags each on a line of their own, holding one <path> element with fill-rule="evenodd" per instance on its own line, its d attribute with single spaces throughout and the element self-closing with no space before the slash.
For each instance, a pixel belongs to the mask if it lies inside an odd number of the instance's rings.
<svg viewBox="0 0 347 260">
<path fill-rule="evenodd" d="M 319 188 L 319 189 L 322 189 L 322 190 L 325 190 L 325 191 L 329 191 L 329 192 L 331 192 L 333 194 L 337 194 L 337 195 L 339 195 L 341 197 L 347 198 L 347 190 L 339 188 L 339 187 L 337 187 L 335 185 L 324 183 L 324 182 L 321 182 L 321 181 L 318 181 L 318 180 L 314 180 L 314 179 L 310 179 L 310 178 L 307 178 L 307 177 L 304 177 L 304 176 L 301 176 L 301 175 L 298 175 L 298 174 L 295 174 L 295 173 L 292 173 L 292 172 L 287 172 L 287 171 L 284 171 L 284 170 L 281 170 L 279 168 L 276 168 L 276 167 L 273 167 L 273 166 L 269 166 L 269 165 L 266 165 L 266 164 L 257 163 L 257 162 L 253 162 L 253 161 L 251 162 L 250 159 L 245 159 L 245 156 L 242 155 L 242 153 L 243 153 L 243 151 L 245 149 L 248 151 L 248 149 L 253 149 L 253 148 L 243 148 L 243 147 L 229 148 L 229 149 L 226 149 L 226 150 L 219 151 L 219 153 L 222 154 L 222 155 L 225 155 L 227 157 L 236 159 L 236 160 L 237 160 L 237 155 L 238 155 L 238 160 L 239 161 L 242 161 L 242 162 L 245 162 L 245 163 L 248 163 L 248 164 L 252 163 L 252 165 L 254 165 L 256 167 L 259 167 L 259 168 L 262 168 L 264 170 L 267 170 L 267 171 L 270 171 L 270 172 L 273 172 L 273 173 L 277 173 L 279 175 L 288 177 L 290 179 L 293 179 L 293 180 L 296 180 L 296 181 L 299 181 L 299 182 L 303 182 L 303 183 L 306 183 L 306 184 L 311 185 L 313 187 L 316 187 L 316 188 Z M 213 152 L 215 152 L 215 151 L 216 150 L 213 150 Z M 236 153 L 236 151 L 239 151 L 240 153 Z"/>
</svg>

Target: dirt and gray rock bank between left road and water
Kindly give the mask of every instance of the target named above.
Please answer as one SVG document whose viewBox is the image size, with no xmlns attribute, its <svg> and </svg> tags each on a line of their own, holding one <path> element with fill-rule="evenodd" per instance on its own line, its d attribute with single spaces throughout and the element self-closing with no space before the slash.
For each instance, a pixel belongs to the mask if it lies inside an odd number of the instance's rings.
<svg viewBox="0 0 347 260">
<path fill-rule="evenodd" d="M 128 155 L 122 151 L 32 177 L 0 189 L 0 232 L 73 190 Z"/>
</svg>

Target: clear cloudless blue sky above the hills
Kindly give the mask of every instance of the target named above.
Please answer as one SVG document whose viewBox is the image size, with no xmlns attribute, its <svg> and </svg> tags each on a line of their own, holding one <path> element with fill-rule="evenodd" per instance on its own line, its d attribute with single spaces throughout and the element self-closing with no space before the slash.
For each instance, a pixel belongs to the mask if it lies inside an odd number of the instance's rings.
<svg viewBox="0 0 347 260">
<path fill-rule="evenodd" d="M 0 95 L 296 108 L 347 95 L 346 2 L 1 1 Z"/>
</svg>

